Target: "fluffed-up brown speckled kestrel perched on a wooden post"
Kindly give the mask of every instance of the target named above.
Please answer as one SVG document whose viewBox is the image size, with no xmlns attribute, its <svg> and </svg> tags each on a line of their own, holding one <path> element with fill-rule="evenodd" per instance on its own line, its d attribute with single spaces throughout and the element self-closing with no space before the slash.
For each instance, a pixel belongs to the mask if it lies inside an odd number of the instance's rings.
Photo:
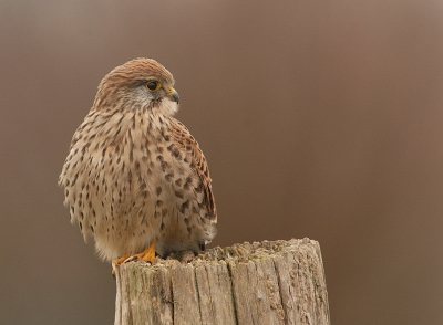
<svg viewBox="0 0 443 325">
<path fill-rule="evenodd" d="M 173 75 L 152 59 L 115 67 L 100 83 L 59 177 L 71 222 L 103 260 L 198 252 L 216 235 L 206 159 L 173 115 Z"/>
</svg>

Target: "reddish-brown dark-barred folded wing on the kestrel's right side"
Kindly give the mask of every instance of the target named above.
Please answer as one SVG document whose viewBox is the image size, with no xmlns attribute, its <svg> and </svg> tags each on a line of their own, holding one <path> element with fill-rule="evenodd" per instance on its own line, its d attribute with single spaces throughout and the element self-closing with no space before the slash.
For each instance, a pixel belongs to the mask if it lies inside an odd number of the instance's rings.
<svg viewBox="0 0 443 325">
<path fill-rule="evenodd" d="M 190 135 L 186 126 L 184 126 L 179 120 L 173 117 L 171 117 L 171 122 L 173 130 L 172 134 L 176 141 L 177 147 L 181 150 L 184 150 L 190 155 L 192 157 L 190 166 L 193 170 L 195 170 L 195 172 L 198 175 L 202 181 L 204 191 L 204 203 L 206 205 L 208 210 L 207 218 L 213 222 L 217 222 L 217 211 L 215 207 L 213 187 L 210 185 L 212 179 L 209 176 L 209 169 L 207 166 L 206 158 L 203 155 L 202 149 L 198 146 L 198 143 Z"/>
</svg>

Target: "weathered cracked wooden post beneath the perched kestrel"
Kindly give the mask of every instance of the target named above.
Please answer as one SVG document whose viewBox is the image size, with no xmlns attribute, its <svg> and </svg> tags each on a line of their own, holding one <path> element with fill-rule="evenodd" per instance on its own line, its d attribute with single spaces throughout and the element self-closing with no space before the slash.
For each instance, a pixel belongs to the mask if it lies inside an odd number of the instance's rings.
<svg viewBox="0 0 443 325">
<path fill-rule="evenodd" d="M 245 242 L 181 260 L 116 268 L 115 325 L 330 324 L 317 241 Z"/>
</svg>

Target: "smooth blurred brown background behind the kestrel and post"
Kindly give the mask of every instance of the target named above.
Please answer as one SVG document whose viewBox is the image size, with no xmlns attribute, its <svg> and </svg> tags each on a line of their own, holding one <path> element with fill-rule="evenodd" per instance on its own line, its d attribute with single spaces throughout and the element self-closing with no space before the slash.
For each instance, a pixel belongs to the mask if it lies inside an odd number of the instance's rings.
<svg viewBox="0 0 443 325">
<path fill-rule="evenodd" d="M 442 1 L 1 1 L 0 323 L 112 324 L 56 179 L 101 78 L 176 80 L 214 245 L 320 242 L 332 324 L 443 324 Z"/>
</svg>

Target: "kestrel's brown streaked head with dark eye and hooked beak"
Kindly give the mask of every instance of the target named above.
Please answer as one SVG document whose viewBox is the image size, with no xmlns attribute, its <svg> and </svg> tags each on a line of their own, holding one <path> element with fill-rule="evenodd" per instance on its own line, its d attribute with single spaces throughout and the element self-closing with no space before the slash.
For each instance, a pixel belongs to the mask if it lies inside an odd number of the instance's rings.
<svg viewBox="0 0 443 325">
<path fill-rule="evenodd" d="M 111 71 L 100 83 L 93 111 L 150 109 L 151 114 L 174 115 L 178 93 L 174 77 L 152 59 L 134 59 Z"/>
</svg>

